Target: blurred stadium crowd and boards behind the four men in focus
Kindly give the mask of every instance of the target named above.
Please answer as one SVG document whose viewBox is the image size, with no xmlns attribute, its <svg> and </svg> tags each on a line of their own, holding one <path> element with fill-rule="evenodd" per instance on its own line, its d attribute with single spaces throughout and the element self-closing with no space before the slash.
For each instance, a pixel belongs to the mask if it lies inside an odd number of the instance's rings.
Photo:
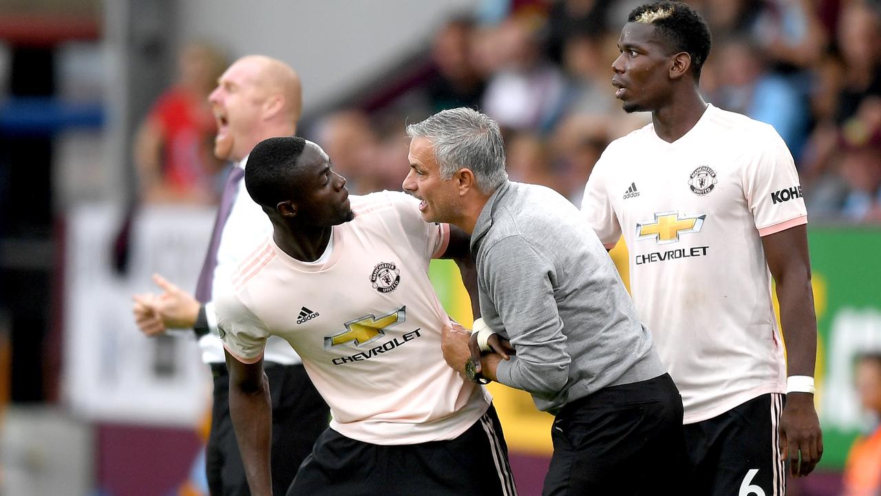
<svg viewBox="0 0 881 496">
<path fill-rule="evenodd" d="M 404 124 L 470 106 L 503 127 L 512 179 L 580 206 L 603 148 L 649 120 L 610 82 L 642 3 L 0 0 L 0 494 L 200 493 L 210 373 L 192 333 L 137 332 L 130 295 L 153 272 L 195 287 L 228 168 L 210 153 L 206 97 L 236 57 L 300 73 L 298 132 L 352 192 L 400 190 Z M 796 158 L 825 455 L 789 493 L 844 494 L 848 452 L 881 410 L 881 368 L 860 388 L 855 375 L 856 357 L 881 351 L 881 6 L 690 4 L 714 35 L 706 99 L 773 124 Z M 432 277 L 470 322 L 455 267 Z M 520 493 L 539 494 L 551 417 L 492 392 Z M 869 471 L 876 451 L 861 452 Z"/>
</svg>

